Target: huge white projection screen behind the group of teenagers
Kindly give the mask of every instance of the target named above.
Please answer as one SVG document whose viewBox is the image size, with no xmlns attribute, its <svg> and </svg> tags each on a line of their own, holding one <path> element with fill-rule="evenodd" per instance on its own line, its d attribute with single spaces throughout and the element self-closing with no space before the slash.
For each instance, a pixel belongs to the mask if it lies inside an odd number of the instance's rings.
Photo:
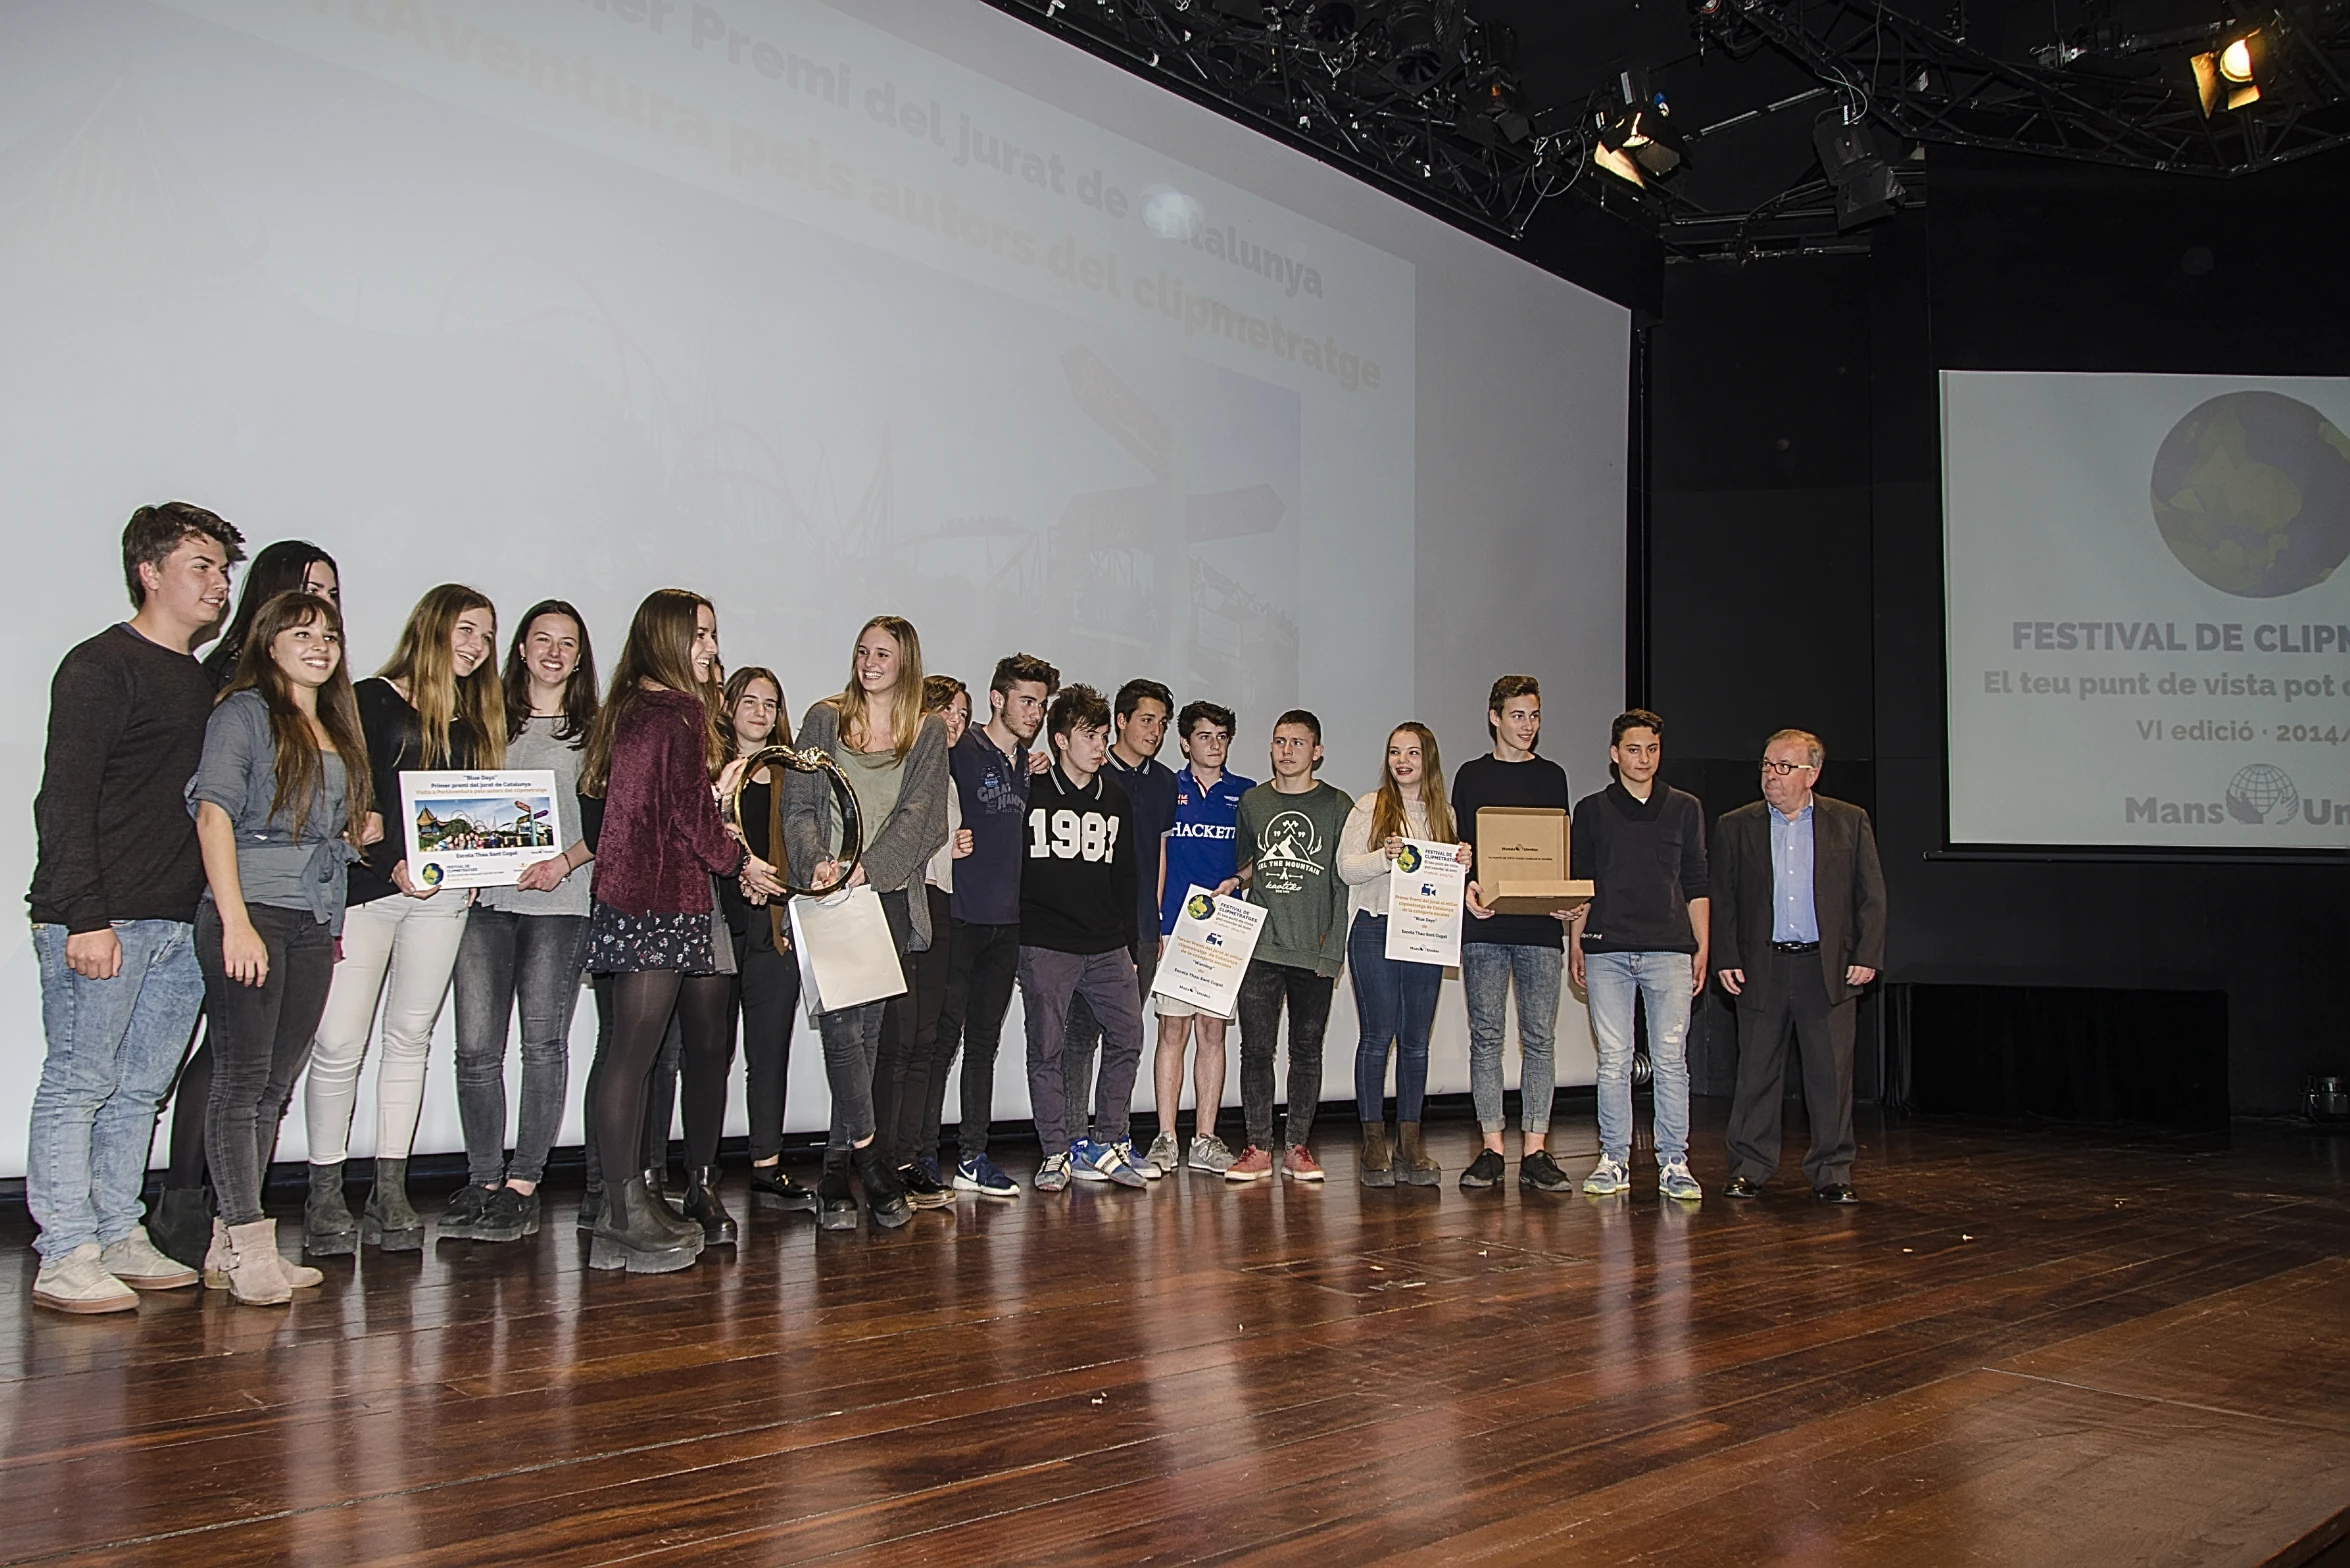
<svg viewBox="0 0 2350 1568">
<path fill-rule="evenodd" d="M 439 581 L 576 602 L 606 672 L 674 583 L 794 722 L 888 611 L 975 689 L 1027 649 L 1224 701 L 1253 776 L 1309 705 L 1347 790 L 1405 717 L 1448 766 L 1483 750 L 1485 686 L 1528 670 L 1549 752 L 1603 778 L 1619 306 L 973 0 L 5 12 L 16 889 L 45 677 L 127 614 L 118 534 L 162 498 L 331 550 L 362 675 Z M 0 985 L 21 1173 L 24 929 Z M 1431 1086 L 1464 1088 L 1457 987 L 1438 1027 Z M 583 1001 L 566 1140 L 592 1039 Z M 1342 1004 L 1337 1095 L 1351 1046 Z M 1560 1056 L 1591 1081 L 1572 1001 Z M 444 1013 L 418 1152 L 461 1145 L 449 1060 Z M 1006 1119 L 1020 1060 L 1015 1011 Z M 825 1124 L 806 1025 L 790 1107 Z"/>
</svg>

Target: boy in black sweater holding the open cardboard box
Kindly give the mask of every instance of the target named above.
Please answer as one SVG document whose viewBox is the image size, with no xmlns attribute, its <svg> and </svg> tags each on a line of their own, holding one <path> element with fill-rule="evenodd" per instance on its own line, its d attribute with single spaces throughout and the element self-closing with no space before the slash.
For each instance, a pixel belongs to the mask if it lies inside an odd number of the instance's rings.
<svg viewBox="0 0 2350 1568">
<path fill-rule="evenodd" d="M 1535 755 L 1542 741 L 1542 684 L 1532 675 L 1504 675 L 1485 698 L 1492 755 L 1471 757 L 1452 776 L 1452 820 L 1476 844 L 1476 813 L 1485 806 L 1549 806 L 1572 802 L 1567 771 Z M 1462 931 L 1462 994 L 1469 999 L 1469 1098 L 1476 1105 L 1485 1147 L 1462 1171 L 1462 1187 L 1502 1180 L 1502 1048 L 1509 1044 L 1509 990 L 1518 987 L 1518 1117 L 1523 1145 L 1518 1185 L 1565 1192 L 1574 1182 L 1544 1140 L 1551 1133 L 1551 1095 L 1558 1086 L 1553 1039 L 1558 1032 L 1558 976 L 1565 966 L 1567 912 L 1495 914 L 1480 903 L 1476 860 L 1469 863 L 1469 914 Z"/>
</svg>

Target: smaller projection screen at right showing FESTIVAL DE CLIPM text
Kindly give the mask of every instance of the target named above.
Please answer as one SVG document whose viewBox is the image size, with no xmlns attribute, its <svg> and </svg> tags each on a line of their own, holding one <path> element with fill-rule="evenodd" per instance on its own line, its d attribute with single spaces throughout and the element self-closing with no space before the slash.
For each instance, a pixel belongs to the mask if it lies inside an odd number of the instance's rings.
<svg viewBox="0 0 2350 1568">
<path fill-rule="evenodd" d="M 2350 844 L 2350 381 L 1943 371 L 1950 839 Z"/>
</svg>

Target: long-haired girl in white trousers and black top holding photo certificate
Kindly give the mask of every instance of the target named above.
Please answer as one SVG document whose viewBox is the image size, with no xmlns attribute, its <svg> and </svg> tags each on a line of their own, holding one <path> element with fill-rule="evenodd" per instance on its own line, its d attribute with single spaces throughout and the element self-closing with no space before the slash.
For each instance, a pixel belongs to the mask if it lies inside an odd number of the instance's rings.
<svg viewBox="0 0 2350 1568">
<path fill-rule="evenodd" d="M 303 1251 L 310 1253 L 352 1253 L 362 1244 L 418 1251 L 425 1244 L 423 1215 L 409 1204 L 409 1145 L 425 1098 L 425 1053 L 449 994 L 472 893 L 418 886 L 409 877 L 400 776 L 503 766 L 505 691 L 496 644 L 498 609 L 489 597 L 463 583 L 442 583 L 409 611 L 390 663 L 352 689 L 360 729 L 367 731 L 376 816 L 374 842 L 348 872 L 343 957 L 334 966 L 303 1093 L 310 1128 Z M 376 1182 L 352 1220 L 343 1201 L 343 1161 L 378 1004 Z"/>
</svg>

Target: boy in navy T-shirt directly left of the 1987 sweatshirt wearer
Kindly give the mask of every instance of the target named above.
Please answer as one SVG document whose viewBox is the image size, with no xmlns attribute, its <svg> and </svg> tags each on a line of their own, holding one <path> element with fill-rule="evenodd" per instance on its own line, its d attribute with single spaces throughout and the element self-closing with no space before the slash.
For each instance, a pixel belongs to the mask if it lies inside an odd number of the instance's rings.
<svg viewBox="0 0 2350 1568">
<path fill-rule="evenodd" d="M 964 827 L 971 830 L 971 853 L 954 863 L 954 893 L 947 900 L 954 947 L 938 1037 L 964 1039 L 954 1190 L 992 1199 L 1020 1197 L 1020 1187 L 987 1157 L 987 1121 L 996 1114 L 996 1046 L 1020 969 L 1020 846 L 1027 839 L 1029 748 L 1055 691 L 1060 670 L 1034 654 L 999 658 L 996 675 L 987 682 L 987 724 L 966 729 L 947 752 Z M 952 1060 L 949 1046 L 947 1063 Z M 945 1070 L 940 1065 L 940 1074 Z"/>
</svg>

